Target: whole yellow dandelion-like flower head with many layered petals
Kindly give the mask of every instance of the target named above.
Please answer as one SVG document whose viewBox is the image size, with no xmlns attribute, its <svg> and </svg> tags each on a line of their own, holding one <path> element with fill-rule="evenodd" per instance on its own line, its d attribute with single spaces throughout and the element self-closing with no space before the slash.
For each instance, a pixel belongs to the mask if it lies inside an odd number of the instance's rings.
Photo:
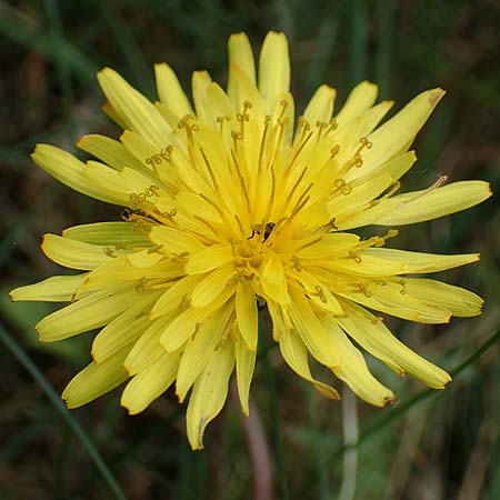
<svg viewBox="0 0 500 500">
<path fill-rule="evenodd" d="M 386 248 L 394 229 L 368 239 L 351 231 L 434 219 L 491 194 L 486 182 L 442 186 L 444 178 L 398 193 L 416 161 L 408 149 L 443 90 L 420 93 L 379 127 L 392 102 L 374 104 L 373 83 L 357 86 L 336 114 L 336 90 L 321 86 L 296 123 L 284 34 L 267 36 L 258 74 L 243 33 L 229 39 L 229 60 L 227 91 L 208 72 L 193 73 L 193 107 L 164 63 L 154 67 L 154 104 L 106 68 L 98 74 L 104 112 L 123 128 L 120 139 L 80 139 L 96 158 L 86 163 L 48 144 L 32 154 L 77 191 L 128 207 L 123 221 L 46 234 L 43 252 L 82 273 L 11 292 L 13 300 L 71 302 L 37 324 L 41 341 L 101 329 L 92 362 L 62 394 L 68 407 L 129 380 L 121 403 L 133 414 L 174 383 L 180 401 L 191 390 L 188 438 L 202 448 L 234 370 L 249 411 L 259 304 L 284 361 L 329 398 L 338 393 L 313 378 L 309 354 L 369 403 L 394 399 L 351 340 L 397 373 L 442 389 L 448 373 L 369 310 L 423 323 L 479 314 L 474 293 L 406 277 L 479 256 Z"/>
</svg>

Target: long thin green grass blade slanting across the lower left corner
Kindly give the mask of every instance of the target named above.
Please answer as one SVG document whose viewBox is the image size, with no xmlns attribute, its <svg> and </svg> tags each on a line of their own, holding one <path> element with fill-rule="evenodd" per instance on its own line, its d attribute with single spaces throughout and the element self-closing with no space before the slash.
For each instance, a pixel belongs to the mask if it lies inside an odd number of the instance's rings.
<svg viewBox="0 0 500 500">
<path fill-rule="evenodd" d="M 48 382 L 43 373 L 37 368 L 37 366 L 31 361 L 29 356 L 8 333 L 8 331 L 3 328 L 2 324 L 0 324 L 0 340 L 3 342 L 7 349 L 16 357 L 16 359 L 20 362 L 20 364 L 22 364 L 22 367 L 37 381 L 37 383 L 40 386 L 40 388 L 49 398 L 50 402 L 53 404 L 53 407 L 61 414 L 66 423 L 69 426 L 71 431 L 80 440 L 82 447 L 89 454 L 89 458 L 92 460 L 96 468 L 99 470 L 102 479 L 107 482 L 109 489 L 113 494 L 113 498 L 117 500 L 127 500 L 120 486 L 118 484 L 118 481 L 116 480 L 112 472 L 109 470 L 108 466 L 106 464 L 98 449 L 91 441 L 90 437 L 64 407 L 59 394 L 53 390 L 52 386 Z"/>
</svg>

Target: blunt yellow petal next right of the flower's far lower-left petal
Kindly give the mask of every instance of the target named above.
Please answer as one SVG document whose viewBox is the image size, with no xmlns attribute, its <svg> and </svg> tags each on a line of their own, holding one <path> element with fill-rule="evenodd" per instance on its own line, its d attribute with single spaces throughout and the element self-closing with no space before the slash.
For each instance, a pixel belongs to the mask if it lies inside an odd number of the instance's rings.
<svg viewBox="0 0 500 500">
<path fill-rule="evenodd" d="M 127 384 L 121 394 L 121 406 L 129 414 L 143 411 L 176 380 L 179 354 L 164 352 Z"/>
</svg>

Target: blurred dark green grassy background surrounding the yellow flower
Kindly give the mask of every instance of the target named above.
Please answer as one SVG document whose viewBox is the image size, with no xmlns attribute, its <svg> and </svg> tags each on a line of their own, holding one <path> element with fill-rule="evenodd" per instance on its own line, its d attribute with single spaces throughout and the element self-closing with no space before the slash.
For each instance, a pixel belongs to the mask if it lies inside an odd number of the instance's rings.
<svg viewBox="0 0 500 500">
<path fill-rule="evenodd" d="M 51 306 L 11 304 L 7 292 L 60 272 L 39 249 L 43 233 L 120 217 L 118 208 L 57 183 L 29 158 L 37 142 L 74 151 L 84 133 L 118 137 L 100 112 L 96 71 L 113 67 L 151 99 L 154 62 L 169 62 L 186 89 L 198 69 L 226 83 L 229 34 L 244 30 L 257 54 L 270 29 L 289 37 L 299 112 L 323 82 L 338 88 L 341 103 L 354 82 L 368 78 L 397 109 L 421 90 L 448 91 L 417 140 L 419 161 L 403 190 L 444 173 L 484 179 L 496 189 L 497 0 L 0 1 L 1 500 L 267 498 L 254 496 L 264 464 L 251 459 L 232 397 L 208 428 L 201 452 L 189 449 L 184 409 L 171 391 L 133 418 L 119 407 L 118 390 L 63 412 L 57 394 L 89 361 L 91 339 L 38 343 L 33 326 Z M 477 291 L 487 306 L 481 317 L 447 326 L 390 322 L 456 377 L 446 391 L 426 392 L 370 360 L 400 402 L 383 410 L 358 403 L 357 500 L 500 498 L 499 226 L 493 197 L 463 213 L 402 228 L 391 241 L 411 250 L 480 251 L 478 264 L 439 278 Z M 252 398 L 271 453 L 270 498 L 339 498 L 341 404 L 299 381 L 272 349 L 258 363 Z"/>
</svg>

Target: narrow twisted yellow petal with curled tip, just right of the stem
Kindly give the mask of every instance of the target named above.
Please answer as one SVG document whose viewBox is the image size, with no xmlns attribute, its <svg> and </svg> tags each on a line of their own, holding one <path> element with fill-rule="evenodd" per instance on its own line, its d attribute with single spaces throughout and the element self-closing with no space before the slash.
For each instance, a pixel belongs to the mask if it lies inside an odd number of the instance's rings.
<svg viewBox="0 0 500 500">
<path fill-rule="evenodd" d="M 281 354 L 287 364 L 300 377 L 329 399 L 339 399 L 339 393 L 330 386 L 316 380 L 309 370 L 308 354 L 300 337 L 293 331 L 282 332 L 279 338 Z"/>
</svg>

